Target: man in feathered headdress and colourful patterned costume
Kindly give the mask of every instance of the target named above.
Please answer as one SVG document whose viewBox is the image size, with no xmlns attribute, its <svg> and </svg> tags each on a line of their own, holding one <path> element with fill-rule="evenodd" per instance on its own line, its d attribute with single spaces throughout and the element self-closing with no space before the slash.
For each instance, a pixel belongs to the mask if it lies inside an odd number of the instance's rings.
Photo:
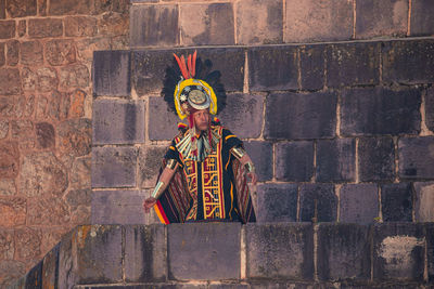
<svg viewBox="0 0 434 289">
<path fill-rule="evenodd" d="M 187 64 L 183 56 L 175 60 L 166 70 L 163 95 L 189 124 L 178 124 L 144 211 L 154 208 L 164 224 L 255 222 L 246 183 L 247 175 L 256 184 L 255 167 L 242 141 L 210 117 L 226 105 L 220 73 L 209 73 L 212 63 L 202 63 L 196 52 Z"/>
</svg>

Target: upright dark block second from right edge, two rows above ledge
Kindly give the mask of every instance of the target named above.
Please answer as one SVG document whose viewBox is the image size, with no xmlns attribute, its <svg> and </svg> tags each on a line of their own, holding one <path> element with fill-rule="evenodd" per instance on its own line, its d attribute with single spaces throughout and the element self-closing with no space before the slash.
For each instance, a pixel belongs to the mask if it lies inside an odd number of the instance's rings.
<svg viewBox="0 0 434 289">
<path fill-rule="evenodd" d="M 361 137 L 358 154 L 360 181 L 395 179 L 395 144 L 392 137 Z"/>
</svg>

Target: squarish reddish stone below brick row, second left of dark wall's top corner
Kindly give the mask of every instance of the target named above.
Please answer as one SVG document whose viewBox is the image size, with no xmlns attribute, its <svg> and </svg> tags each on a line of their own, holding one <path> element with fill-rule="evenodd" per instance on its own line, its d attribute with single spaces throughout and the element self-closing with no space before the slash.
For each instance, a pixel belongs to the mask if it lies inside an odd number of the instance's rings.
<svg viewBox="0 0 434 289">
<path fill-rule="evenodd" d="M 53 66 L 67 65 L 76 62 L 76 49 L 74 41 L 66 39 L 53 39 L 46 43 L 46 60 Z"/>
</svg>

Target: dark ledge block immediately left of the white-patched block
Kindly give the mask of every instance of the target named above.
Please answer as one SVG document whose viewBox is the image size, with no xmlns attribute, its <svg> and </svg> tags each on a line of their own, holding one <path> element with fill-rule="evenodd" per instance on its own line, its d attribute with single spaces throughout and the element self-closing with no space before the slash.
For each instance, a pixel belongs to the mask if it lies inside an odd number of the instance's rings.
<svg viewBox="0 0 434 289">
<path fill-rule="evenodd" d="M 320 224 L 318 276 L 322 280 L 371 277 L 371 234 L 367 225 Z"/>
</svg>

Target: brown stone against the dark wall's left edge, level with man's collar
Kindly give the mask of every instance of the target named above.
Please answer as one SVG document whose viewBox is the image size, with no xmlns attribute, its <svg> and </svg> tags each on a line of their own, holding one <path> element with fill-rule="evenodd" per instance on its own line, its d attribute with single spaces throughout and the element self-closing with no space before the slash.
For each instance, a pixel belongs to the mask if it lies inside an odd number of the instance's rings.
<svg viewBox="0 0 434 289">
<path fill-rule="evenodd" d="M 86 156 L 91 146 L 91 123 L 89 119 L 72 119 L 56 127 L 59 147 L 62 153 L 72 156 Z"/>
</svg>

